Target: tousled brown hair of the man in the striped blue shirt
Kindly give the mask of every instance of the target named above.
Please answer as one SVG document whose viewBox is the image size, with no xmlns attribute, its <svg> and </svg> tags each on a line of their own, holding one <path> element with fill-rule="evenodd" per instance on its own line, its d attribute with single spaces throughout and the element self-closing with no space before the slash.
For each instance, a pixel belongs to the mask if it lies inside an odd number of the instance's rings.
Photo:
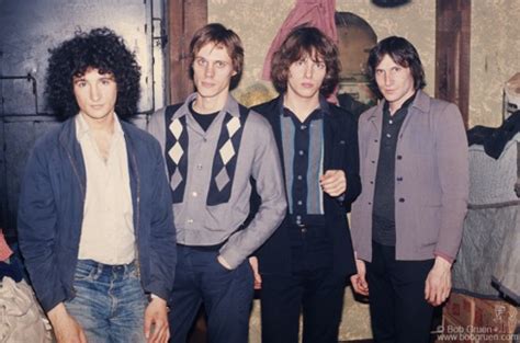
<svg viewBox="0 0 520 343">
<path fill-rule="evenodd" d="M 338 84 L 341 70 L 338 47 L 321 31 L 305 25 L 291 31 L 280 49 L 273 54 L 271 81 L 274 88 L 281 94 L 286 92 L 289 68 L 305 55 L 324 59 L 327 73 L 319 92 L 325 96 L 330 95 Z"/>
</svg>

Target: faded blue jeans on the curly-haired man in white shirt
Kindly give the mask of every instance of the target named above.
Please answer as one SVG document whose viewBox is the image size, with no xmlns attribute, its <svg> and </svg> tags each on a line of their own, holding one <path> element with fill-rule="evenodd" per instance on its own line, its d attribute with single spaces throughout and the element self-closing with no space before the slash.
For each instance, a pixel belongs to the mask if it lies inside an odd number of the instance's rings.
<svg viewBox="0 0 520 343">
<path fill-rule="evenodd" d="M 146 341 L 147 299 L 134 263 L 106 265 L 79 260 L 74 288 L 76 297 L 65 301 L 65 307 L 83 328 L 89 343 Z"/>
</svg>

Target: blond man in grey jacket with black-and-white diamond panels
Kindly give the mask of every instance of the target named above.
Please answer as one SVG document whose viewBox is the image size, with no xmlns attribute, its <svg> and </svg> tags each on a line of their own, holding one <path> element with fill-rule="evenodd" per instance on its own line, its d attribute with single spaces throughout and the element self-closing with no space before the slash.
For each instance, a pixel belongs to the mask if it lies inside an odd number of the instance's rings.
<svg viewBox="0 0 520 343">
<path fill-rule="evenodd" d="M 149 124 L 163 149 L 178 237 L 172 342 L 186 342 L 204 302 L 210 342 L 246 343 L 253 295 L 248 256 L 285 216 L 281 163 L 267 119 L 229 94 L 242 70 L 240 38 L 208 24 L 195 33 L 190 52 L 196 93 Z M 262 201 L 245 224 L 251 180 Z"/>
</svg>

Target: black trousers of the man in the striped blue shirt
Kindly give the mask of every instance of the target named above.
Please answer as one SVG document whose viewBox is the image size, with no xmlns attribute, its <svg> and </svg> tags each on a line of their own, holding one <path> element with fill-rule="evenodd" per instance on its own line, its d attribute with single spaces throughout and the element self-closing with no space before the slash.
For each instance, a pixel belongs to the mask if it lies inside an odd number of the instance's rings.
<svg viewBox="0 0 520 343">
<path fill-rule="evenodd" d="M 337 343 L 346 276 L 332 274 L 325 228 L 292 228 L 292 274 L 262 275 L 263 343 Z"/>
</svg>

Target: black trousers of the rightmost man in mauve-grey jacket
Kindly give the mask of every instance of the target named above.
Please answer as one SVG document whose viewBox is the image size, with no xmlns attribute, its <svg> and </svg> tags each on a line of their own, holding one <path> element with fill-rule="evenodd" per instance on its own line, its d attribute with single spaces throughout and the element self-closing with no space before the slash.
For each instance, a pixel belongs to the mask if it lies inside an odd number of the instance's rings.
<svg viewBox="0 0 520 343">
<path fill-rule="evenodd" d="M 429 342 L 433 307 L 425 300 L 425 282 L 433 260 L 396 261 L 395 247 L 372 247 L 366 281 L 374 341 Z"/>
</svg>

